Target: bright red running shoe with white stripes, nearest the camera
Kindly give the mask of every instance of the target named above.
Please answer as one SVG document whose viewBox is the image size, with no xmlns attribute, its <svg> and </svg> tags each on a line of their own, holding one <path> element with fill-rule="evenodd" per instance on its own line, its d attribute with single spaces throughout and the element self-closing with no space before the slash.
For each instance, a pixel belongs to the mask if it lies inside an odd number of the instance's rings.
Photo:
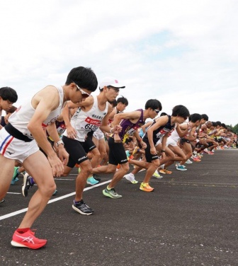
<svg viewBox="0 0 238 266">
<path fill-rule="evenodd" d="M 11 245 L 14 247 L 31 249 L 42 248 L 46 243 L 46 239 L 36 238 L 35 233 L 30 230 L 26 231 L 26 233 L 15 231 L 11 241 Z"/>
</svg>

